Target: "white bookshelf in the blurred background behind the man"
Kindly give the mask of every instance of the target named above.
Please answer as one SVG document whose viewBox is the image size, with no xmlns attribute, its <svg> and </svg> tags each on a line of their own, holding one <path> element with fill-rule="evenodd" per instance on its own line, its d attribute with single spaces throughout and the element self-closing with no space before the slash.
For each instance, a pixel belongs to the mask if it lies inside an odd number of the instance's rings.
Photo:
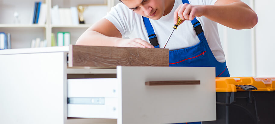
<svg viewBox="0 0 275 124">
<path fill-rule="evenodd" d="M 43 25 L 31 24 L 33 6 L 38 1 L 45 3 L 47 6 L 46 23 Z M 107 13 L 117 3 L 119 3 L 118 0 L 0 0 L 0 32 L 11 34 L 12 49 L 29 48 L 31 40 L 35 38 L 46 39 L 48 41 L 47 47 L 49 47 L 51 46 L 51 34 L 54 33 L 56 38 L 57 32 L 70 32 L 71 44 L 75 44 L 78 37 L 93 23 L 53 25 L 51 23 L 51 8 L 53 5 L 58 5 L 59 8 L 77 7 L 78 5 L 105 5 L 106 9 L 100 11 Z M 19 24 L 14 24 L 15 11 L 19 14 Z M 96 13 L 91 13 L 91 16 Z"/>
</svg>

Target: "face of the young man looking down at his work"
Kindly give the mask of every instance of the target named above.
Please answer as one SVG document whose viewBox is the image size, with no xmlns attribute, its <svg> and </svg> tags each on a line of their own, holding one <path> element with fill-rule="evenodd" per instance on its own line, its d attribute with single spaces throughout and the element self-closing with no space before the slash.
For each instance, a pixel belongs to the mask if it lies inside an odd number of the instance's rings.
<svg viewBox="0 0 275 124">
<path fill-rule="evenodd" d="M 135 13 L 153 19 L 160 19 L 165 10 L 165 0 L 122 0 Z"/>
</svg>

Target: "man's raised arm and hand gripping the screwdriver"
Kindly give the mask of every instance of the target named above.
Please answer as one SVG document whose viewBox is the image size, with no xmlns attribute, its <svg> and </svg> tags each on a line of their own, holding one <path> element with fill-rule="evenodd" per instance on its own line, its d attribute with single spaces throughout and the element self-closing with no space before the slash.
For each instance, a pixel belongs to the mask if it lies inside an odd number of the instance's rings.
<svg viewBox="0 0 275 124">
<path fill-rule="evenodd" d="M 193 20 L 205 16 L 232 29 L 251 29 L 258 23 L 257 14 L 240 0 L 217 0 L 214 5 L 181 5 L 174 13 L 177 17 Z"/>
</svg>

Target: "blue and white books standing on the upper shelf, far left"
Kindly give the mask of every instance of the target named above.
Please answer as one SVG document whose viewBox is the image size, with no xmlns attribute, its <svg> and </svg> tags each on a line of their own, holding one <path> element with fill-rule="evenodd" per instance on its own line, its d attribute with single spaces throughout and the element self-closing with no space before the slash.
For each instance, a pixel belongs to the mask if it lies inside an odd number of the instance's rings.
<svg viewBox="0 0 275 124">
<path fill-rule="evenodd" d="M 47 5 L 40 2 L 35 2 L 33 7 L 31 22 L 33 24 L 43 25 L 46 23 Z"/>
</svg>

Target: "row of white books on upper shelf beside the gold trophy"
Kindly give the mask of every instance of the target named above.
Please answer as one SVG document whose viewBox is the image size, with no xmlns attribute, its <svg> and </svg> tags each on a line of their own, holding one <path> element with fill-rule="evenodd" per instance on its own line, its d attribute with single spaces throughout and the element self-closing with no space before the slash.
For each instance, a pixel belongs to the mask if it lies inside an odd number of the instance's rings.
<svg viewBox="0 0 275 124">
<path fill-rule="evenodd" d="M 54 5 L 51 10 L 52 25 L 78 25 L 78 11 L 76 7 L 58 8 Z"/>
</svg>

